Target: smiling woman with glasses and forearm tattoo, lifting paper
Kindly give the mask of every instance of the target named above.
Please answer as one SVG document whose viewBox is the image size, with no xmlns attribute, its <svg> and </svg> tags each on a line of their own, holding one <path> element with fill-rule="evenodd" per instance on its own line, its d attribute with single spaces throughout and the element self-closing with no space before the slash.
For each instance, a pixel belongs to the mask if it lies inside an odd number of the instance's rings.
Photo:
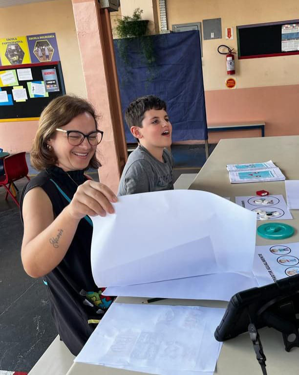
<svg viewBox="0 0 299 375">
<path fill-rule="evenodd" d="M 92 278 L 90 216 L 113 213 L 117 198 L 84 174 L 100 166 L 96 148 L 102 137 L 87 101 L 71 95 L 53 99 L 41 114 L 31 152 L 31 164 L 41 172 L 20 202 L 24 270 L 43 277 L 56 327 L 74 355 L 112 302 Z"/>
</svg>

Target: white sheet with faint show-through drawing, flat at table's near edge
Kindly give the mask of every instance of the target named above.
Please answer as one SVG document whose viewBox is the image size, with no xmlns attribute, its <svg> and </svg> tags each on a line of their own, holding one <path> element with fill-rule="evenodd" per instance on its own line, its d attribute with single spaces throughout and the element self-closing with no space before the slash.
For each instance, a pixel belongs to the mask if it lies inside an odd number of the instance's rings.
<svg viewBox="0 0 299 375">
<path fill-rule="evenodd" d="M 213 373 L 225 309 L 114 303 L 75 362 L 152 374 Z"/>
</svg>

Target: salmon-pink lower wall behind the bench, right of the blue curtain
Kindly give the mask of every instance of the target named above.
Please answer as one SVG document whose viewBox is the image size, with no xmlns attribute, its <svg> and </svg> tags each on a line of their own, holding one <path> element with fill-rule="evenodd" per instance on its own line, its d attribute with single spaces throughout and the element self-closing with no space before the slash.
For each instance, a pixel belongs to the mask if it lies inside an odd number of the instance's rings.
<svg viewBox="0 0 299 375">
<path fill-rule="evenodd" d="M 299 135 L 299 85 L 214 90 L 205 97 L 209 124 L 261 120 L 266 137 Z M 256 129 L 217 132 L 209 134 L 209 142 L 259 136 Z"/>
</svg>

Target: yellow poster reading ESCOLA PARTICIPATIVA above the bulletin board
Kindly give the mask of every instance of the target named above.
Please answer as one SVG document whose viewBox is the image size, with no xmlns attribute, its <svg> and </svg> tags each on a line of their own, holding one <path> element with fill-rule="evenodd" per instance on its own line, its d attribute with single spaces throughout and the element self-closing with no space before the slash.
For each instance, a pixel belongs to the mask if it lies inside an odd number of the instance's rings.
<svg viewBox="0 0 299 375">
<path fill-rule="evenodd" d="M 0 39 L 2 65 L 30 64 L 30 55 L 25 36 Z"/>
</svg>

